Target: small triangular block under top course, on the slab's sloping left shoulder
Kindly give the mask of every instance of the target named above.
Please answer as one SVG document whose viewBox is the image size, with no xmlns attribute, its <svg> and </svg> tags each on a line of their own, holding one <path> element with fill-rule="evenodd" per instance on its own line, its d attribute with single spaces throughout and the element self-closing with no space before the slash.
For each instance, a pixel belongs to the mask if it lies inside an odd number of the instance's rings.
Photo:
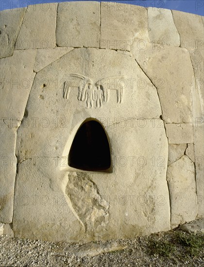
<svg viewBox="0 0 204 267">
<path fill-rule="evenodd" d="M 38 49 L 34 62 L 34 72 L 38 72 L 42 68 L 48 66 L 55 60 L 59 59 L 69 51 L 73 50 L 70 47 L 56 47 L 54 49 Z"/>
</svg>

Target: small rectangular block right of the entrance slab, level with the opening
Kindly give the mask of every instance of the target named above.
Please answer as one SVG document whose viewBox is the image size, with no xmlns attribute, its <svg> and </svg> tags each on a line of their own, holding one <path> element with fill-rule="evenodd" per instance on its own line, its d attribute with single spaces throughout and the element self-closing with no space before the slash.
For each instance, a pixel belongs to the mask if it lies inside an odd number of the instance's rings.
<svg viewBox="0 0 204 267">
<path fill-rule="evenodd" d="M 165 124 L 169 144 L 193 143 L 193 127 L 191 123 Z"/>
</svg>

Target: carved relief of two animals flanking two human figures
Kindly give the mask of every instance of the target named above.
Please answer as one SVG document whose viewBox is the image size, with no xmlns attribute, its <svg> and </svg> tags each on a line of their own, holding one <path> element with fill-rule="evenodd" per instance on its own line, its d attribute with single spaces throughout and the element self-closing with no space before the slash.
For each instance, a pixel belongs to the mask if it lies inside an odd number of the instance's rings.
<svg viewBox="0 0 204 267">
<path fill-rule="evenodd" d="M 78 97 L 80 101 L 86 102 L 87 108 L 100 108 L 104 102 L 109 100 L 110 90 L 117 91 L 117 103 L 121 103 L 124 96 L 124 85 L 120 83 L 120 80 L 125 79 L 125 76 L 109 76 L 105 79 L 101 79 L 96 83 L 84 75 L 71 73 L 68 77 L 80 78 L 80 82 L 77 86 L 73 85 L 72 81 L 66 80 L 64 82 L 63 97 L 68 100 L 69 92 L 72 87 L 78 87 Z"/>
</svg>

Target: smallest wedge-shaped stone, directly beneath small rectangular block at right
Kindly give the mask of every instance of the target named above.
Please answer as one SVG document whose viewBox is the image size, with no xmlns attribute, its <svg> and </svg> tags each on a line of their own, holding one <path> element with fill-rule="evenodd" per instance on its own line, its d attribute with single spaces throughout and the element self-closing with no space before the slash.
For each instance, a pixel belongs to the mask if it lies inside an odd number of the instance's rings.
<svg viewBox="0 0 204 267">
<path fill-rule="evenodd" d="M 185 154 L 187 144 L 169 144 L 168 165 L 177 161 Z"/>
</svg>

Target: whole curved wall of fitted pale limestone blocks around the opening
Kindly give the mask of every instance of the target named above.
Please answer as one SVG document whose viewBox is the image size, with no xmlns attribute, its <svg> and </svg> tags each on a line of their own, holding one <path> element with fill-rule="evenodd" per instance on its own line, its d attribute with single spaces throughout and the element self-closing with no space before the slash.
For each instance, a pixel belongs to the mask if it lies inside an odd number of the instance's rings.
<svg viewBox="0 0 204 267">
<path fill-rule="evenodd" d="M 0 44 L 5 229 L 75 242 L 204 217 L 204 17 L 38 4 L 0 12 Z M 109 172 L 68 166 L 90 119 L 107 134 Z"/>
</svg>

